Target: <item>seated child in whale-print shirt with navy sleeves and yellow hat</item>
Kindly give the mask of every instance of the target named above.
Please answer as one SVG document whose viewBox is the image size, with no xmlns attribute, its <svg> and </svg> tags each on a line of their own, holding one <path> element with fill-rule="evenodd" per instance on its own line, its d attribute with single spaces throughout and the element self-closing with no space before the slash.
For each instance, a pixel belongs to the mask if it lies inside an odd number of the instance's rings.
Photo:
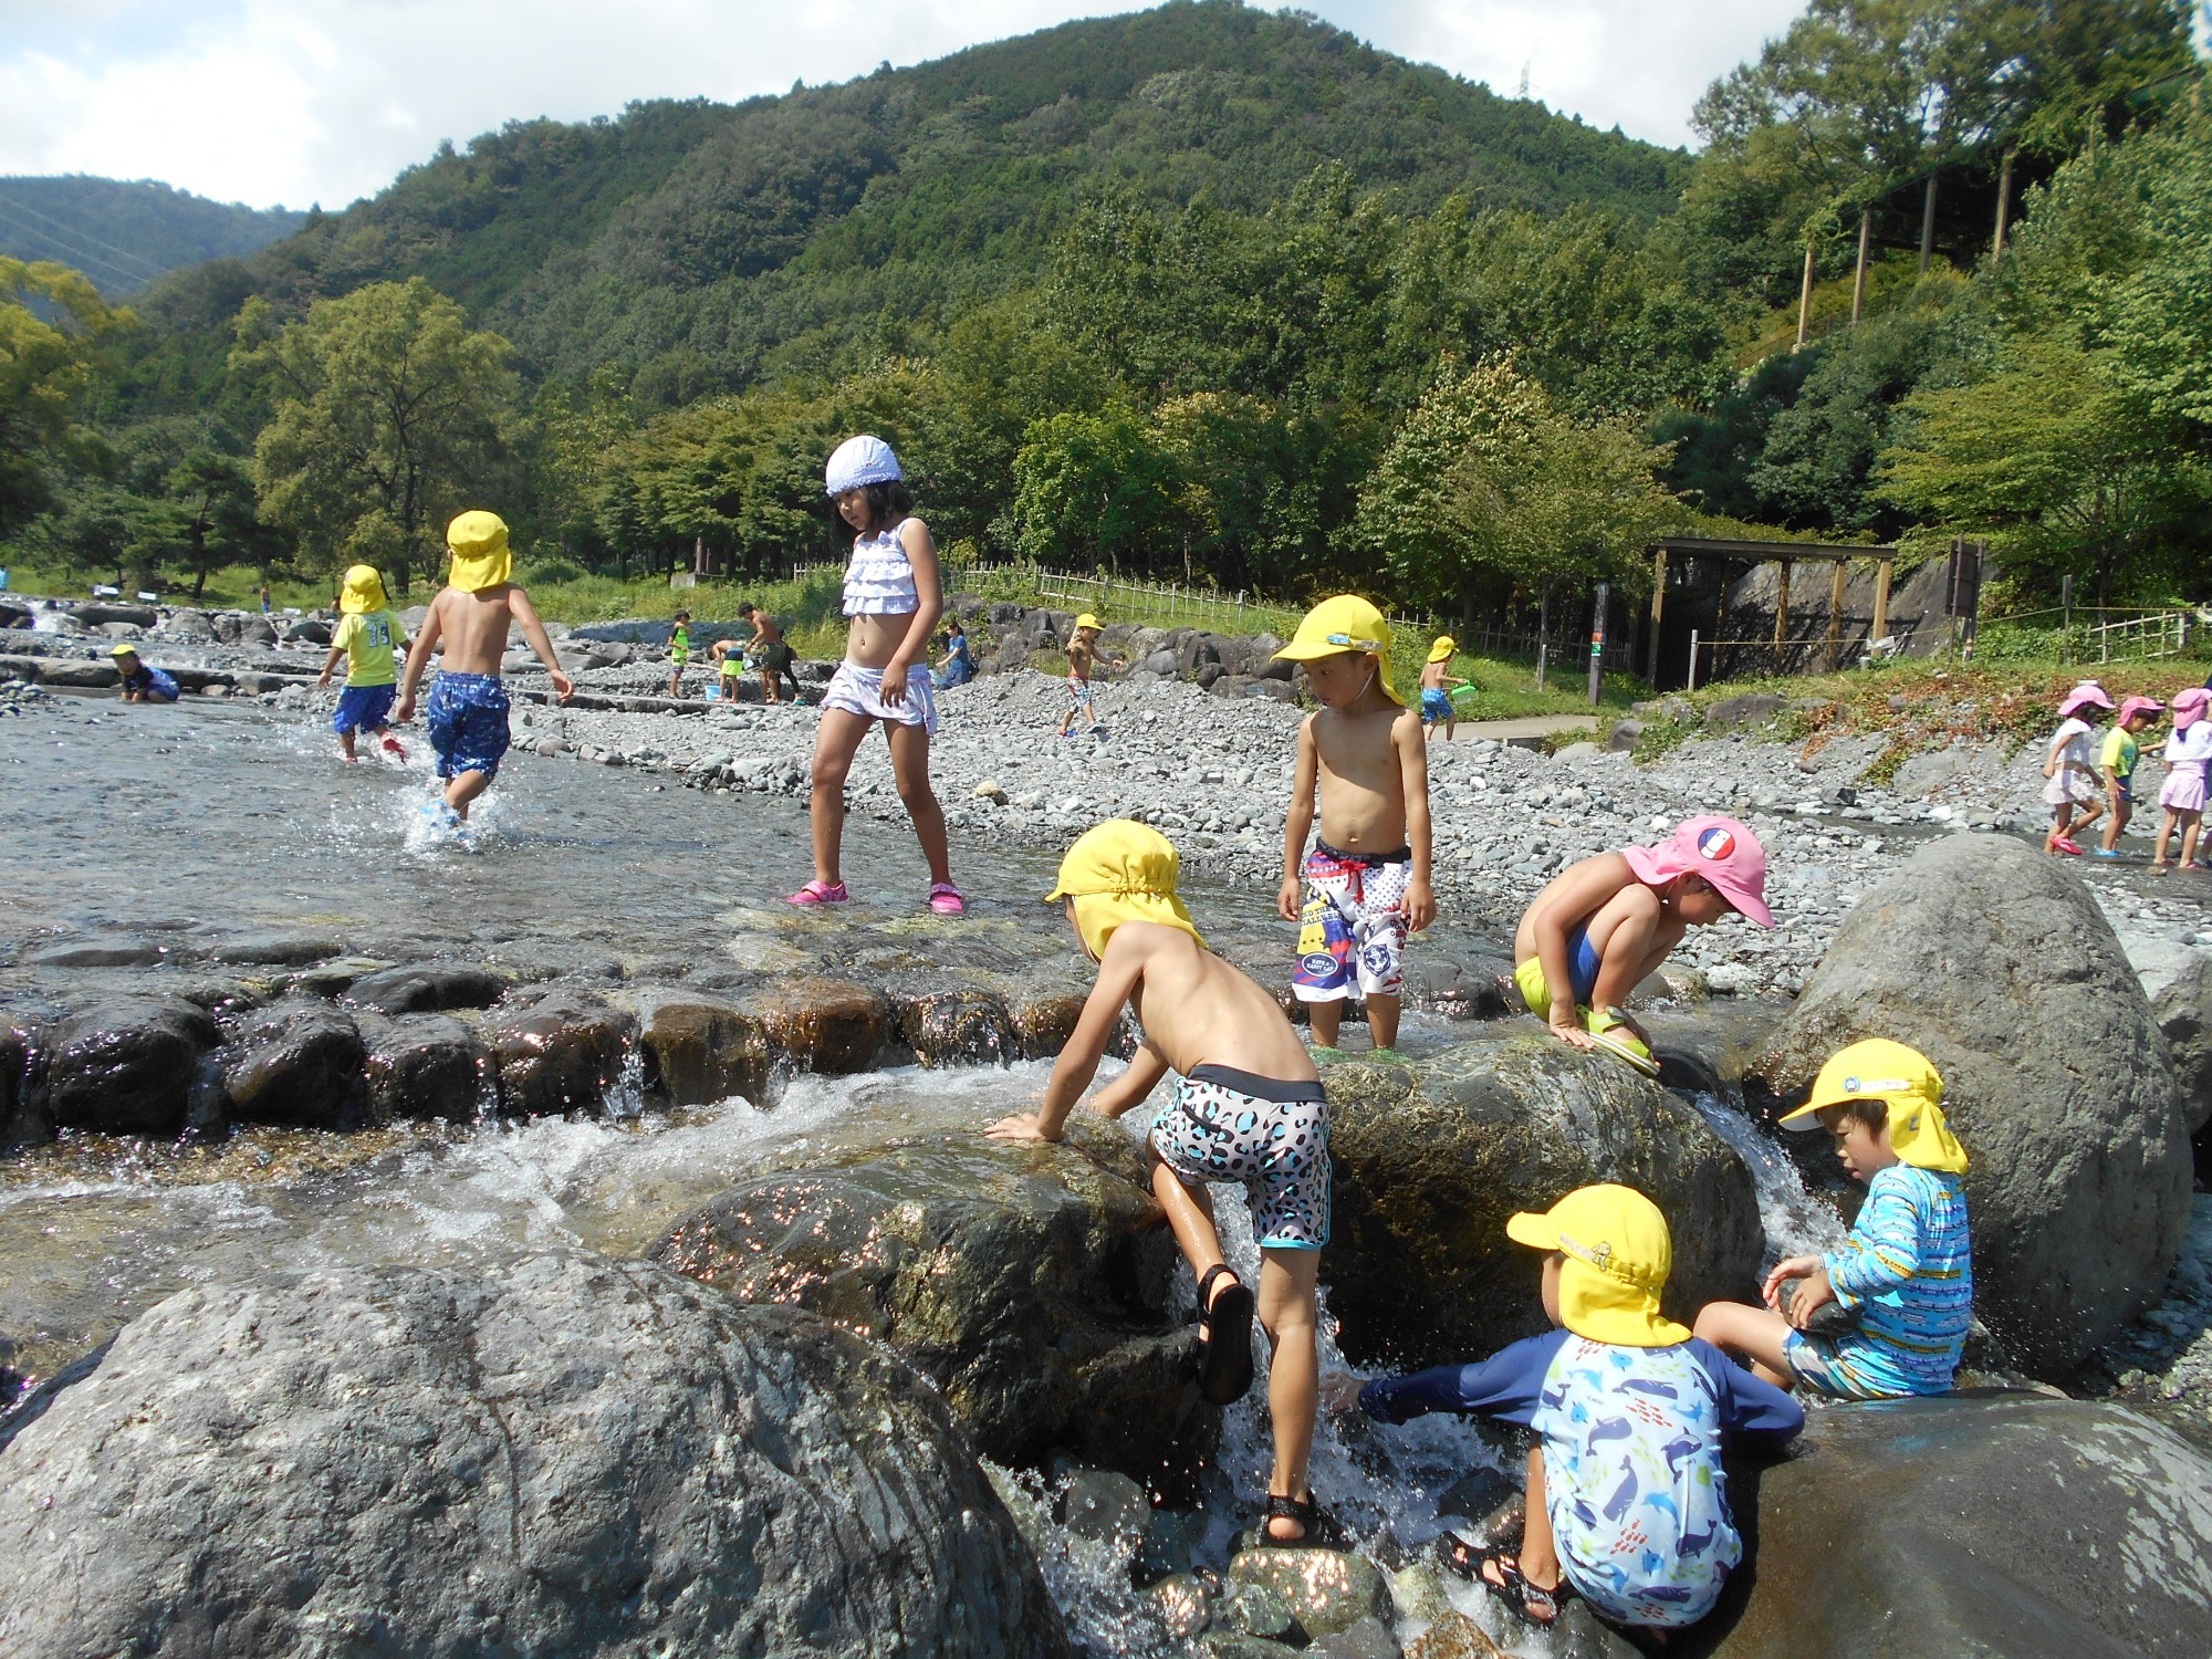
<svg viewBox="0 0 2212 1659">
<path fill-rule="evenodd" d="M 1376 1378 L 1360 1409 L 1380 1422 L 1480 1411 L 1535 1429 L 1520 1551 L 1444 1546 L 1531 1624 L 1557 1624 L 1564 1588 L 1617 1624 L 1694 1624 L 1743 1559 L 1723 1436 L 1781 1447 L 1805 1413 L 1659 1314 L 1674 1245 L 1641 1192 L 1577 1188 L 1544 1214 L 1515 1214 L 1506 1234 L 1548 1252 L 1542 1296 L 1555 1329 L 1478 1365 Z"/>
</svg>

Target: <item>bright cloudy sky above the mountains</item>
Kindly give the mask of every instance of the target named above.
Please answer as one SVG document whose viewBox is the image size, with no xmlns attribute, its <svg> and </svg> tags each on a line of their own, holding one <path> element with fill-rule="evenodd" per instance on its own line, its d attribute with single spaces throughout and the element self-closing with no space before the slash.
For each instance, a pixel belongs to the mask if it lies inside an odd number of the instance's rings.
<svg viewBox="0 0 2212 1659">
<path fill-rule="evenodd" d="M 1363 40 L 1690 144 L 1690 104 L 1803 0 L 1307 0 Z M 790 91 L 1110 0 L 0 0 L 0 175 L 338 208 L 440 139 L 630 100 Z"/>
</svg>

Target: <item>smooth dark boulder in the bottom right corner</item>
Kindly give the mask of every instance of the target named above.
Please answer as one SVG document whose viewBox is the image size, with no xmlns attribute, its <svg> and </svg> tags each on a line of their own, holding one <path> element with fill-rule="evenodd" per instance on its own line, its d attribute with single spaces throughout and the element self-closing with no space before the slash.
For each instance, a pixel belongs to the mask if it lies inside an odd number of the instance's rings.
<svg viewBox="0 0 2212 1659">
<path fill-rule="evenodd" d="M 2212 1462 L 2119 1407 L 1832 1407 L 1730 1495 L 1750 1553 L 1686 1655 L 2212 1652 Z"/>
</svg>

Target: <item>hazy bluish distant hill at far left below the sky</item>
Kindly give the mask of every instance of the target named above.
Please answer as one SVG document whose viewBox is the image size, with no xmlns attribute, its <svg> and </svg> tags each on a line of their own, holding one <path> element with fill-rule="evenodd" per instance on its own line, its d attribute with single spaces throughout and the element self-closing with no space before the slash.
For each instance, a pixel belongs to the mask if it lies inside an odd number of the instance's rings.
<svg viewBox="0 0 2212 1659">
<path fill-rule="evenodd" d="M 290 237 L 305 212 L 208 201 L 166 184 L 0 177 L 0 254 L 75 265 L 108 299 L 208 259 L 237 259 Z"/>
</svg>

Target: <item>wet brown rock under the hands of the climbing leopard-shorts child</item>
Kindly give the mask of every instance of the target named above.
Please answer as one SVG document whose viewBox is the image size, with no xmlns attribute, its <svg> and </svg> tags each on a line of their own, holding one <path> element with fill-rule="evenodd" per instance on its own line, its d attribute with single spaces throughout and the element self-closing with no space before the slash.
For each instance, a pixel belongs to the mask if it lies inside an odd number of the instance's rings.
<svg viewBox="0 0 2212 1659">
<path fill-rule="evenodd" d="M 1060 1146 L 989 1141 L 958 1106 L 856 1124 L 692 1212 L 653 1256 L 883 1338 L 1002 1462 L 1073 1447 L 1152 1482 L 1219 1427 L 1192 1329 L 1166 1312 L 1175 1241 L 1108 1124 L 1077 1119 Z"/>
</svg>

